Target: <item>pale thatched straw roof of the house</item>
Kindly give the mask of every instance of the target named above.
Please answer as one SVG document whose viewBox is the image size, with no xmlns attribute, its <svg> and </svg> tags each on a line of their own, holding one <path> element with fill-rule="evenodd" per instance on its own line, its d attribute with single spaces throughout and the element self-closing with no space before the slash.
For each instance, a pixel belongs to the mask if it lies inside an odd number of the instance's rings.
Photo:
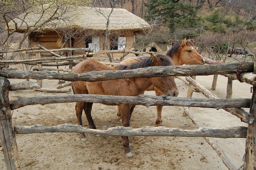
<svg viewBox="0 0 256 170">
<path fill-rule="evenodd" d="M 66 13 L 62 18 L 65 21 L 59 19 L 54 20 L 43 27 L 40 27 L 41 30 L 51 30 L 58 28 L 68 28 L 68 27 L 78 27 L 84 30 L 97 30 L 104 31 L 106 30 L 107 17 L 111 8 L 89 8 L 77 6 L 74 11 Z M 97 12 L 97 11 L 100 11 Z M 101 14 L 102 13 L 102 14 Z M 30 13 L 25 18 L 25 22 L 20 27 L 19 31 L 24 31 L 28 26 L 33 26 L 40 17 L 40 14 Z M 20 17 L 21 18 L 21 17 Z M 44 20 L 47 19 L 47 15 Z M 128 12 L 125 9 L 115 8 L 110 14 L 110 24 L 108 29 L 110 31 L 138 31 L 141 34 L 151 31 L 149 24 L 138 16 Z M 15 19 L 18 25 L 21 24 L 21 20 Z M 39 22 L 41 23 L 41 22 Z M 11 21 L 9 23 L 10 28 L 14 29 L 14 24 Z"/>
</svg>

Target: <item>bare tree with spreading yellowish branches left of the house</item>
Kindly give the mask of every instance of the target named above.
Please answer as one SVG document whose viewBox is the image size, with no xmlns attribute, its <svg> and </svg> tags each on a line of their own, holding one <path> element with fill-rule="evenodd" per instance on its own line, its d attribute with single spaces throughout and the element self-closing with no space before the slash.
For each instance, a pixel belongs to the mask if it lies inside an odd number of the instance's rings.
<svg viewBox="0 0 256 170">
<path fill-rule="evenodd" d="M 78 1 L 80 2 L 80 1 Z M 20 49 L 28 36 L 35 30 L 58 20 L 68 20 L 67 12 L 75 12 L 75 1 L 48 0 L 4 0 L 0 2 L 0 51 L 8 50 L 15 32 L 22 32 L 16 49 Z M 28 16 L 33 16 L 32 22 Z M 5 29 L 6 28 L 6 29 Z M 16 41 L 17 43 L 17 41 Z M 16 53 L 10 56 L 15 58 Z"/>
</svg>

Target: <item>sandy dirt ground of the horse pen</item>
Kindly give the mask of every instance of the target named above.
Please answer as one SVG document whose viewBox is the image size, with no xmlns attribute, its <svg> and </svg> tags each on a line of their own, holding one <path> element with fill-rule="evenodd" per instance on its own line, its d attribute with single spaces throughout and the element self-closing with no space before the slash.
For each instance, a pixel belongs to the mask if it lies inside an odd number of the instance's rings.
<svg viewBox="0 0 256 170">
<path fill-rule="evenodd" d="M 213 75 L 197 76 L 197 81 L 210 90 Z M 10 79 L 11 84 L 24 80 Z M 34 80 L 31 80 L 34 81 Z M 188 86 L 176 79 L 179 97 L 187 95 Z M 58 80 L 43 80 L 43 88 L 56 88 Z M 215 93 L 220 98 L 226 96 L 227 78 L 218 76 Z M 251 98 L 251 85 L 233 81 L 232 98 Z M 66 87 L 70 88 L 70 87 Z M 212 90 L 210 90 L 212 91 Z M 32 97 L 34 95 L 61 95 L 69 93 L 47 93 L 32 90 L 10 91 L 10 100 L 17 96 Z M 154 95 L 154 91 L 146 91 Z M 206 98 L 201 93 L 193 93 L 194 98 Z M 249 111 L 248 108 L 245 109 Z M 190 108 L 205 127 L 246 126 L 223 109 Z M 183 108 L 164 106 L 162 120 L 165 127 L 196 129 L 188 117 L 183 117 Z M 107 129 L 121 125 L 116 116 L 115 106 L 95 103 L 92 117 L 98 129 Z M 83 115 L 85 127 L 88 123 Z M 131 117 L 130 126 L 139 128 L 155 126 L 156 107 L 136 106 Z M 76 124 L 75 103 L 46 104 L 44 106 L 25 106 L 14 110 L 13 125 L 54 126 L 63 123 Z M 239 168 L 243 164 L 245 139 L 211 138 L 223 149 L 230 161 Z M 87 135 L 87 141 L 79 138 L 79 133 L 35 133 L 16 135 L 21 169 L 23 170 L 227 170 L 217 153 L 202 137 L 130 137 L 133 157 L 125 157 L 120 136 Z M 2 149 L 2 148 L 0 148 Z M 2 150 L 0 151 L 2 152 Z M 0 154 L 0 168 L 5 168 L 3 154 Z"/>
</svg>

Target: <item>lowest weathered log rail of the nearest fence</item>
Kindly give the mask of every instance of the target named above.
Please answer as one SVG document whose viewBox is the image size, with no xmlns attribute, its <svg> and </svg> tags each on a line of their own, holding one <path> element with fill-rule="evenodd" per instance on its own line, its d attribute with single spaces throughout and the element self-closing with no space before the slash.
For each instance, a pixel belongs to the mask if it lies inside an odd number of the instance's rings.
<svg viewBox="0 0 256 170">
<path fill-rule="evenodd" d="M 229 128 L 200 128 L 197 130 L 183 130 L 178 128 L 159 127 L 113 127 L 107 130 L 98 130 L 82 127 L 80 125 L 63 124 L 53 127 L 44 127 L 41 125 L 22 126 L 16 125 L 16 134 L 43 133 L 43 132 L 75 132 L 75 133 L 93 133 L 109 136 L 187 136 L 187 137 L 213 137 L 213 138 L 246 138 L 246 127 Z"/>
</svg>

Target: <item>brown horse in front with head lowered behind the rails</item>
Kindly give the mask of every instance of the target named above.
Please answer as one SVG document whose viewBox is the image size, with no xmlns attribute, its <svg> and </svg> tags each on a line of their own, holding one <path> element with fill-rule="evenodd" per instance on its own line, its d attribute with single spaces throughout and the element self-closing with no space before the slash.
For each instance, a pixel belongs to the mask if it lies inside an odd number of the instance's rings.
<svg viewBox="0 0 256 170">
<path fill-rule="evenodd" d="M 77 64 L 72 72 L 86 73 L 90 71 L 103 71 L 103 70 L 124 70 L 124 69 L 136 69 L 149 66 L 171 66 L 172 59 L 165 55 L 151 55 L 151 58 L 138 61 L 129 65 L 119 65 L 115 67 L 104 65 L 95 60 L 85 60 Z M 143 94 L 144 91 L 151 85 L 157 87 L 164 95 L 177 96 L 178 89 L 174 82 L 173 76 L 167 77 L 149 77 L 149 78 L 130 78 L 130 79 L 117 79 L 106 80 L 98 82 L 85 82 L 76 81 L 72 82 L 72 89 L 74 94 L 97 94 L 97 95 L 117 95 L 117 96 L 138 96 Z M 96 129 L 94 121 L 92 119 L 93 103 L 77 102 L 75 105 L 75 111 L 77 115 L 77 122 L 82 125 L 82 112 L 85 111 L 89 127 Z M 113 104 L 113 103 L 109 103 Z M 130 118 L 135 106 L 131 104 L 117 104 L 120 111 L 122 125 L 124 127 L 130 126 Z M 125 148 L 126 156 L 132 156 L 129 147 L 128 136 L 122 136 L 123 146 Z M 81 133 L 81 139 L 86 140 L 84 133 Z"/>
</svg>

